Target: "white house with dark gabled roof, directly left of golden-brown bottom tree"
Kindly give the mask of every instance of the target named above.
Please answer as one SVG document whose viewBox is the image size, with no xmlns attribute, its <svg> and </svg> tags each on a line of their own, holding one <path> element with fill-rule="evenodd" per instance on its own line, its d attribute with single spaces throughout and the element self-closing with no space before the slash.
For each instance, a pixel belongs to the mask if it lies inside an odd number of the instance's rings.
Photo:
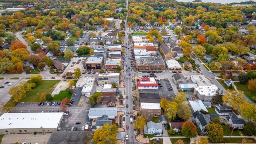
<svg viewBox="0 0 256 144">
<path fill-rule="evenodd" d="M 202 114 L 199 111 L 196 111 L 192 114 L 194 122 L 196 125 L 199 126 L 200 130 L 205 133 L 206 126 L 210 124 L 210 115 L 209 114 Z"/>
</svg>

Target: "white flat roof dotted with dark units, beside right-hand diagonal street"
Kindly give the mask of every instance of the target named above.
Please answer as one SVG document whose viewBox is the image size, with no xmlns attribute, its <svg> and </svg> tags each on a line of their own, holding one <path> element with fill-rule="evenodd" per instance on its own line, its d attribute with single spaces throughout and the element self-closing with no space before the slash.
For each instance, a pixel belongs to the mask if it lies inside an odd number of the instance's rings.
<svg viewBox="0 0 256 144">
<path fill-rule="evenodd" d="M 218 88 L 215 84 L 212 84 L 211 86 L 198 86 L 195 90 L 198 91 L 200 95 L 215 96 Z"/>
</svg>

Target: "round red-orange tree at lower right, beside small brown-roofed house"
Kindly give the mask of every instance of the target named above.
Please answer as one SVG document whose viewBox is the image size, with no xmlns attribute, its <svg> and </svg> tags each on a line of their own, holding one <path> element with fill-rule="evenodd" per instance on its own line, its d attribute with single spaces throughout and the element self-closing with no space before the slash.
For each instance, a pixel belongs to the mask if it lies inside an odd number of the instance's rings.
<svg viewBox="0 0 256 144">
<path fill-rule="evenodd" d="M 196 126 L 192 122 L 184 122 L 181 128 L 181 133 L 186 138 L 194 138 L 196 136 Z"/>
</svg>

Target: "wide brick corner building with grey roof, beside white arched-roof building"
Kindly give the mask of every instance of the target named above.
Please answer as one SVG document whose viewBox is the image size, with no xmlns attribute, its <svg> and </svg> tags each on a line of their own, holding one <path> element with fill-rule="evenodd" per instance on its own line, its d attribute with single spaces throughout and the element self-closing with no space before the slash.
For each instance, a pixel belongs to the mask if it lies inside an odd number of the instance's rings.
<svg viewBox="0 0 256 144">
<path fill-rule="evenodd" d="M 164 61 L 160 57 L 141 57 L 136 59 L 136 70 L 139 71 L 162 71 Z"/>
</svg>

